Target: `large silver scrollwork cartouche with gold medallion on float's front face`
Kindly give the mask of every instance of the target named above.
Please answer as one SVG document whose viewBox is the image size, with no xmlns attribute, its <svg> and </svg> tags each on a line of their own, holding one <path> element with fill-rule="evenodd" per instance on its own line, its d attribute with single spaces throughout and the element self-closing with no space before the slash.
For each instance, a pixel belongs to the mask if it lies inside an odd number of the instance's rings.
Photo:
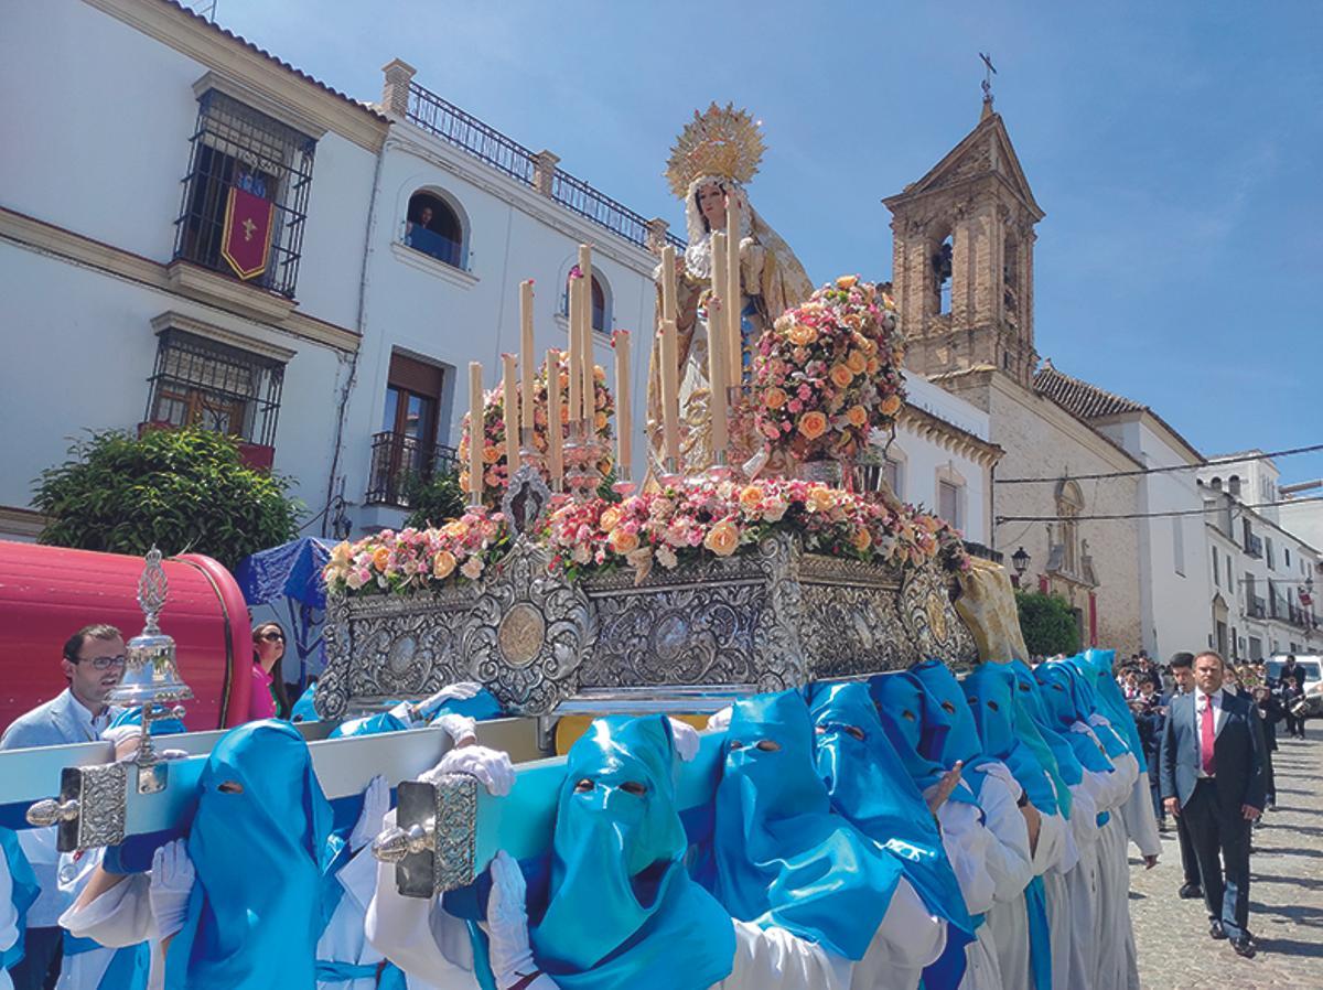
<svg viewBox="0 0 1323 990">
<path fill-rule="evenodd" d="M 513 626 L 507 627 L 511 617 Z M 508 711 L 542 715 L 578 690 L 578 668 L 594 633 L 583 589 L 552 570 L 550 556 L 520 537 L 483 582 L 460 626 L 459 651 L 467 675 Z"/>
</svg>

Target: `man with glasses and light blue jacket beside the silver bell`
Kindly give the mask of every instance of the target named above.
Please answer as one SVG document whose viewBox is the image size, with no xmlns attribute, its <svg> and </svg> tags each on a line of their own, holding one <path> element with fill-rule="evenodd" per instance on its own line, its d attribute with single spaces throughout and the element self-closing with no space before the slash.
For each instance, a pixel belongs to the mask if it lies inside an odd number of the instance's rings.
<svg viewBox="0 0 1323 990">
<path fill-rule="evenodd" d="M 56 698 L 21 715 L 0 736 L 0 749 L 58 746 L 101 739 L 119 708 L 106 704 L 106 695 L 124 672 L 124 638 L 114 626 L 83 626 L 65 642 L 60 659 L 69 687 Z M 19 832 L 24 855 L 32 863 L 40 893 L 28 908 L 24 958 L 9 971 L 15 990 L 53 986 L 64 956 L 60 915 L 73 903 L 73 892 L 60 888 L 60 854 L 56 829 L 25 829 Z"/>
</svg>

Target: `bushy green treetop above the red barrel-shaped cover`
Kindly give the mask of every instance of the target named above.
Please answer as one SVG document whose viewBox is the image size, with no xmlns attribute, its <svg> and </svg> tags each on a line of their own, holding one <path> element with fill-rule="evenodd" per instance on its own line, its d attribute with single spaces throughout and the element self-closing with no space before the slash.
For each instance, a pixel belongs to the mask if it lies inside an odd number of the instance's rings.
<svg viewBox="0 0 1323 990">
<path fill-rule="evenodd" d="M 91 433 L 34 483 L 54 547 L 143 555 L 205 553 L 233 569 L 294 539 L 302 503 L 287 478 L 239 459 L 233 437 L 201 429 Z"/>
</svg>

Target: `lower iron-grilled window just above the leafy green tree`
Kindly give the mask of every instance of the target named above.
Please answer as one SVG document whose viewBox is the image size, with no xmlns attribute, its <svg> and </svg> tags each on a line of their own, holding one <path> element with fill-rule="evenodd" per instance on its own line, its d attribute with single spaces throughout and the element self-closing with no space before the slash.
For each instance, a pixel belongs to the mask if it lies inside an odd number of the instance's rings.
<svg viewBox="0 0 1323 990">
<path fill-rule="evenodd" d="M 147 420 L 201 426 L 275 446 L 284 365 L 180 330 L 165 330 L 148 379 Z"/>
</svg>

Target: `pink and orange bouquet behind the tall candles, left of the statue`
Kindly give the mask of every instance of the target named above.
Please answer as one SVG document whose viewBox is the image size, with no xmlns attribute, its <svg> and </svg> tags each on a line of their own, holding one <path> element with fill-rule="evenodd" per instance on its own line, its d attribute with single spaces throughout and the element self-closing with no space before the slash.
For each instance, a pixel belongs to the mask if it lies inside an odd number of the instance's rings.
<svg viewBox="0 0 1323 990">
<path fill-rule="evenodd" d="M 569 384 L 570 384 L 569 355 L 560 355 L 560 389 L 561 389 L 561 438 L 569 437 Z M 611 445 L 611 417 L 615 416 L 615 400 L 610 389 L 606 388 L 606 372 L 601 365 L 593 367 L 593 381 L 595 384 L 595 416 L 594 429 L 601 442 L 607 450 L 614 450 Z M 533 446 L 542 454 L 548 450 L 548 389 L 546 389 L 546 363 L 537 369 L 533 379 Z M 505 487 L 509 484 L 509 467 L 505 463 L 505 388 L 497 382 L 496 388 L 483 396 L 483 502 L 495 506 L 500 502 Z M 459 435 L 459 487 L 468 491 L 468 445 L 472 442 L 468 416 L 463 418 Z M 611 470 L 611 458 L 607 455 L 598 469 L 602 474 Z"/>
</svg>

